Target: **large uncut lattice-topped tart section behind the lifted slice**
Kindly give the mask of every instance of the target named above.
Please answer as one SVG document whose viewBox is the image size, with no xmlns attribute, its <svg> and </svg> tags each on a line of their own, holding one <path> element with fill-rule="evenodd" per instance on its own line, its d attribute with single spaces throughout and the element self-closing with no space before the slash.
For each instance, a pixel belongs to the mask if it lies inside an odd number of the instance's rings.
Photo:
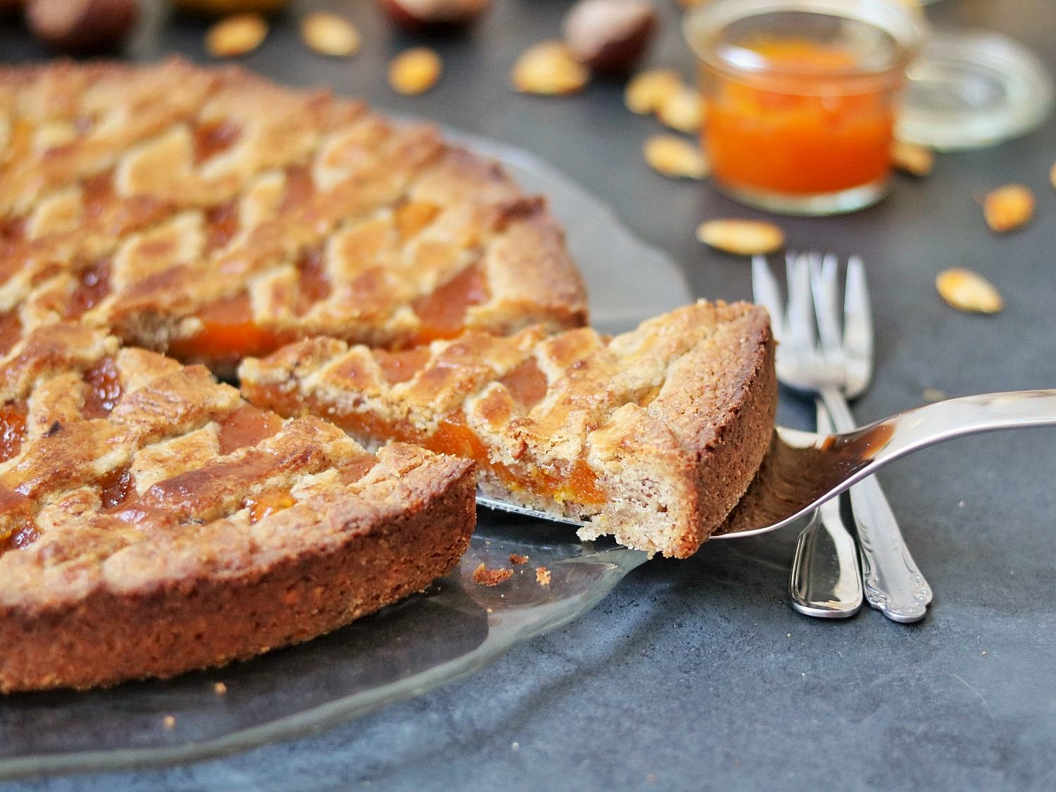
<svg viewBox="0 0 1056 792">
<path fill-rule="evenodd" d="M 0 352 L 79 320 L 230 373 L 585 318 L 542 199 L 432 127 L 178 60 L 0 70 Z"/>
</svg>

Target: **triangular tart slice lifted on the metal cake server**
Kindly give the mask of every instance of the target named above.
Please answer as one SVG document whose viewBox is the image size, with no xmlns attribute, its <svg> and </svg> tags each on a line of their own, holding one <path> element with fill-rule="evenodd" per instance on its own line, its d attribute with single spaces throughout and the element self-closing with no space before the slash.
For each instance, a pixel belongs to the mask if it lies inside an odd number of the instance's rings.
<svg viewBox="0 0 1056 792">
<path fill-rule="evenodd" d="M 698 303 L 612 339 L 536 327 L 402 352 L 312 339 L 239 374 L 258 406 L 324 417 L 369 446 L 473 459 L 486 495 L 679 558 L 748 488 L 776 405 L 769 320 L 743 303 Z"/>
</svg>

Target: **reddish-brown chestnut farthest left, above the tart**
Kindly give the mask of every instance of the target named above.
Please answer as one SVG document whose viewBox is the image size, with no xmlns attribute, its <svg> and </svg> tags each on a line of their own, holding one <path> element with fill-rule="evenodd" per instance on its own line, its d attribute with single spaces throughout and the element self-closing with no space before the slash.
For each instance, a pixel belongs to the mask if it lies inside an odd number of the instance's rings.
<svg viewBox="0 0 1056 792">
<path fill-rule="evenodd" d="M 116 49 L 139 17 L 138 0 L 29 0 L 34 35 L 71 55 Z"/>
</svg>

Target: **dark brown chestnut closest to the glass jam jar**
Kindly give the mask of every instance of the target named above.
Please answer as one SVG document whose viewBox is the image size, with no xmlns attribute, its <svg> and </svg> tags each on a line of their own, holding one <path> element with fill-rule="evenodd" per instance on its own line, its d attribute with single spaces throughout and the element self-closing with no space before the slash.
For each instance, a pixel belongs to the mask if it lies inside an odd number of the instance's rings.
<svg viewBox="0 0 1056 792">
<path fill-rule="evenodd" d="M 645 55 L 656 26 L 647 0 L 579 0 L 565 17 L 565 43 L 595 72 L 624 75 Z"/>
</svg>

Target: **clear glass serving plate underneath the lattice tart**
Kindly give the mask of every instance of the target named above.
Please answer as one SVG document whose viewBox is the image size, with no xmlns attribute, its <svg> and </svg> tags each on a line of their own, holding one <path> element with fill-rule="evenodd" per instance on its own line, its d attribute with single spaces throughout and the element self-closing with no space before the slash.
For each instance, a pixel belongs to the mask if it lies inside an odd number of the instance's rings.
<svg viewBox="0 0 1056 792">
<path fill-rule="evenodd" d="M 450 133 L 549 198 L 609 332 L 692 300 L 678 268 L 607 207 L 533 155 Z M 577 540 L 567 525 L 479 509 L 457 569 L 426 592 L 322 638 L 167 681 L 0 697 L 0 778 L 215 756 L 410 698 L 491 662 L 592 607 L 645 554 Z M 511 554 L 527 556 L 514 565 Z M 480 564 L 512 576 L 473 582 Z M 536 579 L 546 567 L 549 584 Z M 86 728 L 87 725 L 91 728 Z"/>
</svg>

